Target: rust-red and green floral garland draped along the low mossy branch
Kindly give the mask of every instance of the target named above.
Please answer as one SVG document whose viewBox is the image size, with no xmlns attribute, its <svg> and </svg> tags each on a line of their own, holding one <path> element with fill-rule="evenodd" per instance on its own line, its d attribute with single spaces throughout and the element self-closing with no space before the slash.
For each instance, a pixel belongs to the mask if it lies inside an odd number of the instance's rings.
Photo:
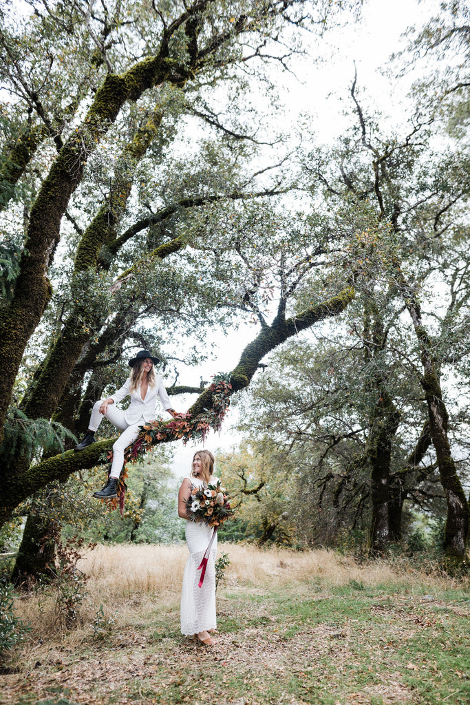
<svg viewBox="0 0 470 705">
<path fill-rule="evenodd" d="M 125 491 L 128 489 L 125 484 L 125 480 L 128 478 L 127 462 L 138 462 L 142 455 L 147 453 L 147 450 L 158 443 L 168 443 L 179 439 L 183 439 L 185 444 L 190 440 L 205 441 L 211 429 L 221 430 L 223 419 L 230 406 L 230 396 L 233 393 L 230 374 L 214 375 L 214 381 L 206 391 L 211 394 L 212 403 L 210 408 L 204 408 L 204 413 L 192 415 L 190 412 L 183 412 L 175 415 L 171 421 L 156 419 L 140 427 L 137 439 L 125 449 L 123 470 L 121 470 L 116 488 L 118 496 L 104 500 L 110 510 L 119 507 L 121 516 L 123 515 Z M 112 451 L 108 453 L 108 459 L 110 461 L 113 459 Z"/>
</svg>

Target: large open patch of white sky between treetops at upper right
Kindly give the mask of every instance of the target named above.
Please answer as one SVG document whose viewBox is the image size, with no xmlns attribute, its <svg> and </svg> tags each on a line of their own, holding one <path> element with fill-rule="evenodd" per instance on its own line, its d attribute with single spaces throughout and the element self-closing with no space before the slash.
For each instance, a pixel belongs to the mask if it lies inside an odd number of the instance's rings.
<svg viewBox="0 0 470 705">
<path fill-rule="evenodd" d="M 279 75 L 281 100 L 292 125 L 299 113 L 308 111 L 315 116 L 311 125 L 323 142 L 336 137 L 347 123 L 341 113 L 347 106 L 354 63 L 358 89 L 367 88 L 376 108 L 398 114 L 411 77 L 391 85 L 381 68 L 387 66 L 390 54 L 406 47 L 402 33 L 411 25 L 421 26 L 437 8 L 435 0 L 366 0 L 359 23 L 331 30 L 324 39 L 312 37 L 312 57 L 317 54 L 323 61 L 302 57 L 291 63 L 297 84 L 291 74 Z"/>
</svg>

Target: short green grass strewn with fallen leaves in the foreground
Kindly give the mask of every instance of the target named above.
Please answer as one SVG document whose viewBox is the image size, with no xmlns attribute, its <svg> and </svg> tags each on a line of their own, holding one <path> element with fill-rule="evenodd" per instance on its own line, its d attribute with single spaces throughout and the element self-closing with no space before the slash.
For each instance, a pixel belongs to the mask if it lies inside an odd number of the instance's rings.
<svg viewBox="0 0 470 705">
<path fill-rule="evenodd" d="M 361 580 L 321 589 L 316 583 L 312 590 L 310 583 L 222 589 L 214 649 L 182 637 L 176 603 L 142 619 L 136 610 L 132 625 L 112 631 L 105 643 L 96 646 L 90 637 L 60 658 L 42 656 L 35 699 L 23 694 L 23 701 L 2 702 L 468 705 L 464 590 L 372 589 Z M 25 682 L 25 675 L 8 678 Z"/>
</svg>

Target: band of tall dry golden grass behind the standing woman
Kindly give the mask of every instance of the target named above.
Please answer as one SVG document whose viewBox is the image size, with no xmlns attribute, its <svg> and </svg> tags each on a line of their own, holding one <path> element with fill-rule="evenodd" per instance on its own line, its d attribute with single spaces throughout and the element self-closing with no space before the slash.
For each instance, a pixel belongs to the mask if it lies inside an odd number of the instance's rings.
<svg viewBox="0 0 470 705">
<path fill-rule="evenodd" d="M 243 544 L 219 544 L 230 565 L 218 590 L 223 598 L 229 591 L 272 589 L 306 594 L 314 583 L 323 591 L 333 587 L 360 585 L 364 589 L 407 589 L 438 592 L 468 589 L 439 570 L 417 570 L 408 560 L 376 560 L 360 565 L 353 558 L 333 551 L 295 552 L 287 549 L 259 549 Z M 78 563 L 87 575 L 87 594 L 80 608 L 75 630 L 61 631 L 56 619 L 56 592 L 46 587 L 17 602 L 23 620 L 30 622 L 33 639 L 76 642 L 89 635 L 94 617 L 102 605 L 116 620 L 115 628 L 138 629 L 157 611 L 177 611 L 187 560 L 186 546 L 123 545 L 97 546 Z"/>
</svg>

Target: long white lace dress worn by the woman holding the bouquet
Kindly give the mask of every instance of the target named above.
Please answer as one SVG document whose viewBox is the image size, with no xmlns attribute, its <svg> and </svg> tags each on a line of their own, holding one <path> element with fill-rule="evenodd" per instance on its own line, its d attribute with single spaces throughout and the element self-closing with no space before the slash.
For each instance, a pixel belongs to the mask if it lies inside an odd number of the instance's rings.
<svg viewBox="0 0 470 705">
<path fill-rule="evenodd" d="M 197 477 L 190 477 L 193 485 L 204 484 Z M 186 544 L 190 551 L 183 575 L 181 593 L 181 632 L 189 637 L 204 630 L 216 629 L 216 553 L 217 536 L 211 546 L 207 561 L 206 575 L 202 587 L 199 587 L 202 558 L 211 540 L 212 528 L 199 522 L 186 522 Z"/>
</svg>

